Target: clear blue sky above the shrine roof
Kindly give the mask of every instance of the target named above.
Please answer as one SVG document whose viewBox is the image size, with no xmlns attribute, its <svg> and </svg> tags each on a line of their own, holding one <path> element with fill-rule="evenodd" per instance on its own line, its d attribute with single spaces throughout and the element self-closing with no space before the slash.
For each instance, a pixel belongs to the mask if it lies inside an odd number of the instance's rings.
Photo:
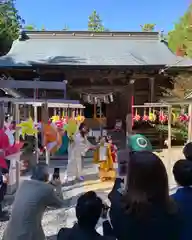
<svg viewBox="0 0 192 240">
<path fill-rule="evenodd" d="M 156 23 L 156 30 L 173 28 L 190 0 L 17 0 L 26 24 L 46 30 L 86 30 L 88 16 L 95 9 L 110 30 L 138 31 L 144 23 Z"/>
</svg>

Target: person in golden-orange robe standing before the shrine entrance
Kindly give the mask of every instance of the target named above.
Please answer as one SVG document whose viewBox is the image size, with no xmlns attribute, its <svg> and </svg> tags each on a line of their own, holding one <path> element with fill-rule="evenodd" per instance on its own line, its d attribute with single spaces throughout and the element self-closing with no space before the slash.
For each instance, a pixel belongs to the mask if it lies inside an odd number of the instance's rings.
<svg viewBox="0 0 192 240">
<path fill-rule="evenodd" d="M 111 145 L 106 136 L 100 138 L 100 143 L 94 152 L 93 162 L 99 164 L 99 177 L 101 181 L 113 180 L 115 169 L 111 154 Z"/>
</svg>

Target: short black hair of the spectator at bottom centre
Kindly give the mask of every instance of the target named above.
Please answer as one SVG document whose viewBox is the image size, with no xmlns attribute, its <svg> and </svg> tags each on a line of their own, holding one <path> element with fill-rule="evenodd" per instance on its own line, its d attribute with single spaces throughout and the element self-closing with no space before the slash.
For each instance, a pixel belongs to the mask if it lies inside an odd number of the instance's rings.
<svg viewBox="0 0 192 240">
<path fill-rule="evenodd" d="M 76 206 L 78 224 L 83 228 L 95 228 L 103 209 L 102 200 L 89 191 L 79 197 Z"/>
</svg>

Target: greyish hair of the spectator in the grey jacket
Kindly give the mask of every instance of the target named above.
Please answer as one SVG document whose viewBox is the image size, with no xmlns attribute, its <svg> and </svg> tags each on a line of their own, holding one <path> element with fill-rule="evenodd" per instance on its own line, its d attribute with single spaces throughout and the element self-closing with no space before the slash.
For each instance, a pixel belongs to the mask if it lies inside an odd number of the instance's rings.
<svg viewBox="0 0 192 240">
<path fill-rule="evenodd" d="M 49 167 L 46 163 L 38 163 L 32 170 L 31 179 L 47 182 L 49 179 Z"/>
</svg>

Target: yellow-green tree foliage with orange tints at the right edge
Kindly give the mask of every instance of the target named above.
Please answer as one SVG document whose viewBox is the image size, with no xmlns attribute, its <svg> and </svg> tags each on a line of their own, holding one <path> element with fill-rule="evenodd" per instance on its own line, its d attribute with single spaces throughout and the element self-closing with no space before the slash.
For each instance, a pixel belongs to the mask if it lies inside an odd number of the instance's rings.
<svg viewBox="0 0 192 240">
<path fill-rule="evenodd" d="M 169 32 L 168 44 L 177 55 L 192 57 L 192 4 Z"/>
</svg>

